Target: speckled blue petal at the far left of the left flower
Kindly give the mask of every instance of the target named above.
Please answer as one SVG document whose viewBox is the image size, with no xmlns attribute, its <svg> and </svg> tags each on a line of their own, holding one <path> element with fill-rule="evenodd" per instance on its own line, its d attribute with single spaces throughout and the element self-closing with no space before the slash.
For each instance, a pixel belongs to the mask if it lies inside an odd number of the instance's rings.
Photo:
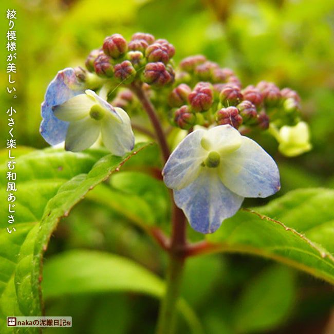
<svg viewBox="0 0 334 334">
<path fill-rule="evenodd" d="M 52 107 L 82 94 L 84 84 L 81 83 L 72 68 L 65 68 L 57 73 L 46 89 L 42 103 L 42 123 L 40 132 L 50 144 L 56 145 L 65 140 L 68 122 L 61 121 L 53 115 Z"/>
</svg>

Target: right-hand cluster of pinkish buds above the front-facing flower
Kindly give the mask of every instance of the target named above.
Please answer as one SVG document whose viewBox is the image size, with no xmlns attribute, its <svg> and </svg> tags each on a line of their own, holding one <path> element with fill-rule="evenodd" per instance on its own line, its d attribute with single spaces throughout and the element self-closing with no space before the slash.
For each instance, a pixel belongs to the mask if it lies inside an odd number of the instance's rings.
<svg viewBox="0 0 334 334">
<path fill-rule="evenodd" d="M 295 124 L 300 109 L 300 98 L 290 88 L 280 90 L 265 81 L 243 88 L 231 69 L 220 68 L 203 55 L 180 62 L 168 103 L 173 108 L 172 122 L 183 129 L 230 124 L 242 126 L 240 131 L 265 130 L 277 120 L 280 126 Z"/>
</svg>

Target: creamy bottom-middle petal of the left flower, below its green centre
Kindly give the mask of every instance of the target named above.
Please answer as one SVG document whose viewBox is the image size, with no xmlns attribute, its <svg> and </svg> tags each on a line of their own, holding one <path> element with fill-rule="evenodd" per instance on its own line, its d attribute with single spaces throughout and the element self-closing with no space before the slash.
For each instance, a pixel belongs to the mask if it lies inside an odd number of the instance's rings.
<svg viewBox="0 0 334 334">
<path fill-rule="evenodd" d="M 99 134 L 99 122 L 90 117 L 70 122 L 65 139 L 65 150 L 78 152 L 88 149 L 98 139 Z"/>
</svg>

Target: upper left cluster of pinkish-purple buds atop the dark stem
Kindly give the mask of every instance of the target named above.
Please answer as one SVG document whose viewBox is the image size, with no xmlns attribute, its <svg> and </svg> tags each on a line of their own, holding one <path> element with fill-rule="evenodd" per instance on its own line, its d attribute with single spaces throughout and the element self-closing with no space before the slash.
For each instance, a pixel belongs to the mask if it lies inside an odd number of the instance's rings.
<svg viewBox="0 0 334 334">
<path fill-rule="evenodd" d="M 102 78 L 113 78 L 124 85 L 142 80 L 152 87 L 174 82 L 172 58 L 175 48 L 152 34 L 137 32 L 127 42 L 118 33 L 107 36 L 100 49 L 92 50 L 86 68 Z"/>
</svg>

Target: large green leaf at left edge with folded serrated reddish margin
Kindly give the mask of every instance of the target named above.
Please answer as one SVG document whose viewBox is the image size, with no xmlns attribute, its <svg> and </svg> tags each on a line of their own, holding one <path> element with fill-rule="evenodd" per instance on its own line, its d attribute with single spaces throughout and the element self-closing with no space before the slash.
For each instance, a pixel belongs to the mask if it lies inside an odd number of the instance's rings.
<svg viewBox="0 0 334 334">
<path fill-rule="evenodd" d="M 7 232 L 8 202 L 0 203 L 0 327 L 5 326 L 7 316 L 41 314 L 42 258 L 59 219 L 146 146 L 137 144 L 123 158 L 105 150 L 71 153 L 47 149 L 16 159 L 16 232 Z M 7 165 L 0 170 L 5 174 Z M 7 198 L 5 181 L 0 181 L 3 198 Z"/>
</svg>

